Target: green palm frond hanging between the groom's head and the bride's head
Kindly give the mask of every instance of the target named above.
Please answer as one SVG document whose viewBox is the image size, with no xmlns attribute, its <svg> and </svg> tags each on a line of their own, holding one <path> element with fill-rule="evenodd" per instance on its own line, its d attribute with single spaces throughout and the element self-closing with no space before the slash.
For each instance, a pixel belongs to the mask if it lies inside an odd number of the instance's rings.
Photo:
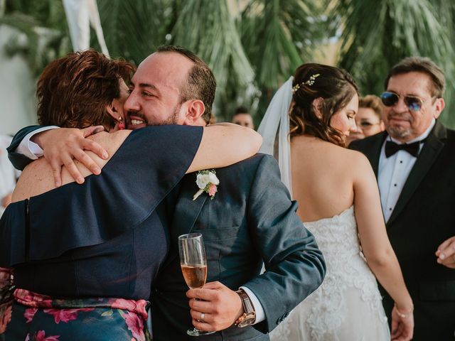
<svg viewBox="0 0 455 341">
<path fill-rule="evenodd" d="M 255 121 L 275 90 L 312 58 L 321 10 L 316 1 L 251 0 L 238 23 L 242 44 L 255 68 L 255 85 L 262 94 Z"/>
</svg>

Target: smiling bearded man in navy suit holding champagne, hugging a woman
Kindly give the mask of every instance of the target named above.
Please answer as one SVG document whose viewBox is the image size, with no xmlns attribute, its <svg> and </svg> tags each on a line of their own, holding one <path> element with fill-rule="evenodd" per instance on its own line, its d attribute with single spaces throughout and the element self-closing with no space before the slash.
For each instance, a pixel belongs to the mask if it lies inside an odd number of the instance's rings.
<svg viewBox="0 0 455 341">
<path fill-rule="evenodd" d="M 129 129 L 149 124 L 205 125 L 210 120 L 215 78 L 196 55 L 167 46 L 139 65 L 130 91 L 124 105 Z M 29 130 L 16 136 L 10 151 Z M 65 141 L 80 143 L 69 152 L 58 151 L 60 160 L 53 161 L 56 173 L 62 163 L 72 168 L 68 158 L 73 156 L 92 165 L 80 156 L 79 147 L 87 146 L 83 132 L 55 129 L 40 134 L 38 142 L 45 151 L 53 150 L 53 141 L 71 134 Z M 97 146 L 90 148 L 102 152 Z M 17 153 L 10 158 L 16 164 L 25 162 Z M 77 177 L 74 168 L 73 174 Z M 191 324 L 200 330 L 219 330 L 205 340 L 268 340 L 267 333 L 323 281 L 321 251 L 299 221 L 296 202 L 279 180 L 271 156 L 257 154 L 217 170 L 217 176 L 220 185 L 214 200 L 207 195 L 193 200 L 198 190 L 194 174 L 186 175 L 171 193 L 178 202 L 168 207 L 173 210 L 171 251 L 153 283 L 154 340 L 193 340 L 186 335 Z M 190 291 L 181 274 L 177 247 L 178 235 L 188 232 L 203 234 L 209 282 Z M 262 263 L 264 274 L 260 274 Z"/>
</svg>

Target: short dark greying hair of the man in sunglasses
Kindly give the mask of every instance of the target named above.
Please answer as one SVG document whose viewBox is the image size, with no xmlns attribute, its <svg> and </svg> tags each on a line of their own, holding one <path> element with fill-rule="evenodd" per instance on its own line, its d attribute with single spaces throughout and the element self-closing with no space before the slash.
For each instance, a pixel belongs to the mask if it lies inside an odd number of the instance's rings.
<svg viewBox="0 0 455 341">
<path fill-rule="evenodd" d="M 442 97 L 446 88 L 444 72 L 431 59 L 424 57 L 408 57 L 392 67 L 385 79 L 385 89 L 387 90 L 390 77 L 408 72 L 423 72 L 429 75 L 432 80 L 432 88 L 430 89 L 432 96 Z"/>
</svg>

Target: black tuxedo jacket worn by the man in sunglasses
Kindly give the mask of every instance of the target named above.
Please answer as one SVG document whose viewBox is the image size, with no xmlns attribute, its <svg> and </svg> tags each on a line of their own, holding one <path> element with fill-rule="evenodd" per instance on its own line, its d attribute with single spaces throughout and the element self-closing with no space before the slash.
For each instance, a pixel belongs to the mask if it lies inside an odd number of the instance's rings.
<svg viewBox="0 0 455 341">
<path fill-rule="evenodd" d="M 350 148 L 378 165 L 386 132 Z M 455 131 L 437 122 L 388 220 L 387 234 L 414 301 L 413 340 L 454 340 L 455 269 L 437 264 L 439 244 L 455 235 Z M 390 318 L 393 302 L 382 289 Z"/>
</svg>

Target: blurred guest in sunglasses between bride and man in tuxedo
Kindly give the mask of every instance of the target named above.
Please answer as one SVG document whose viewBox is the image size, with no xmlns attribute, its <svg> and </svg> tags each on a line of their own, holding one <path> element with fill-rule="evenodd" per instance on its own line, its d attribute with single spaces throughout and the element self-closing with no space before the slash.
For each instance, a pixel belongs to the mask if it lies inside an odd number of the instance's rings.
<svg viewBox="0 0 455 341">
<path fill-rule="evenodd" d="M 381 118 L 383 107 L 381 99 L 374 94 L 367 94 L 358 99 L 358 112 L 355 115 L 357 131 L 353 131 L 348 136 L 347 144 L 384 131 L 385 126 Z"/>
</svg>

